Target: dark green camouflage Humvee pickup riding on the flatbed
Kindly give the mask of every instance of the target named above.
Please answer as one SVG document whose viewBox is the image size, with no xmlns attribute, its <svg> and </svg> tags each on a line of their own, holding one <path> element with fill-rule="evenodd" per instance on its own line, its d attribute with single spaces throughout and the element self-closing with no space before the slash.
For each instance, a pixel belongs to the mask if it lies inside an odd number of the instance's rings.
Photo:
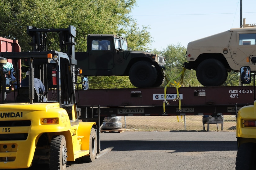
<svg viewBox="0 0 256 170">
<path fill-rule="evenodd" d="M 87 76 L 129 76 L 135 87 L 158 87 L 164 82 L 165 57 L 128 50 L 127 40 L 113 34 L 89 34 L 87 52 L 76 52 L 77 67 Z"/>
</svg>

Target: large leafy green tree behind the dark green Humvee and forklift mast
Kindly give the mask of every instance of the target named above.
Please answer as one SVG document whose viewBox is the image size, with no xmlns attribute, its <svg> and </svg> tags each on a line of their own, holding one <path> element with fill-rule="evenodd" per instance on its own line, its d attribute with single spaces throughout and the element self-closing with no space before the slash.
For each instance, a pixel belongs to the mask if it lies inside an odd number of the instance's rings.
<svg viewBox="0 0 256 170">
<path fill-rule="evenodd" d="M 87 34 L 118 34 L 128 46 L 145 50 L 151 43 L 148 27 L 139 30 L 129 16 L 136 0 L 1 0 L 0 36 L 19 40 L 22 51 L 31 51 L 27 26 L 77 29 L 76 51 L 87 51 Z M 47 34 L 47 50 L 59 50 L 56 33 Z M 90 77 L 92 88 L 133 87 L 127 76 Z M 107 84 L 107 86 L 106 86 Z"/>
</svg>

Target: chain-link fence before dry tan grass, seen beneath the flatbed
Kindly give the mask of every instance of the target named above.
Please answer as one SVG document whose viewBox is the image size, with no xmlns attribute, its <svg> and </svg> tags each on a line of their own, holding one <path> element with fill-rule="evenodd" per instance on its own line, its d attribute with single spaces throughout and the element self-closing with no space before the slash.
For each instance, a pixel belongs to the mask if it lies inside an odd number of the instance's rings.
<svg viewBox="0 0 256 170">
<path fill-rule="evenodd" d="M 134 131 L 203 130 L 203 116 L 125 116 L 122 128 Z M 207 124 L 205 124 L 207 130 Z M 221 130 L 221 124 L 209 124 L 209 131 Z M 236 116 L 223 115 L 223 131 L 236 130 Z"/>
</svg>

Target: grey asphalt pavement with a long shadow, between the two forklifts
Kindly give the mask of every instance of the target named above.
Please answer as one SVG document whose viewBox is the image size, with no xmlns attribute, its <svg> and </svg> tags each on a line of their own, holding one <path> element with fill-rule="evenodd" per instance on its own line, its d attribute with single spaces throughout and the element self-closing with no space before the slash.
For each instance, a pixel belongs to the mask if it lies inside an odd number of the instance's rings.
<svg viewBox="0 0 256 170">
<path fill-rule="evenodd" d="M 235 169 L 235 132 L 127 131 L 100 137 L 101 150 L 113 150 L 92 163 L 69 162 L 67 170 Z"/>
</svg>

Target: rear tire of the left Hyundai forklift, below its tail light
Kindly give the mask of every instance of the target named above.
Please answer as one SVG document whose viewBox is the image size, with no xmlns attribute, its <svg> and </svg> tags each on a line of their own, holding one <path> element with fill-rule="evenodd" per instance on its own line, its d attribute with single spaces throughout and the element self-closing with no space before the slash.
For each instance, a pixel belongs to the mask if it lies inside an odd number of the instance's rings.
<svg viewBox="0 0 256 170">
<path fill-rule="evenodd" d="M 50 170 L 65 170 L 67 165 L 67 146 L 65 136 L 53 137 L 50 144 Z"/>
</svg>

